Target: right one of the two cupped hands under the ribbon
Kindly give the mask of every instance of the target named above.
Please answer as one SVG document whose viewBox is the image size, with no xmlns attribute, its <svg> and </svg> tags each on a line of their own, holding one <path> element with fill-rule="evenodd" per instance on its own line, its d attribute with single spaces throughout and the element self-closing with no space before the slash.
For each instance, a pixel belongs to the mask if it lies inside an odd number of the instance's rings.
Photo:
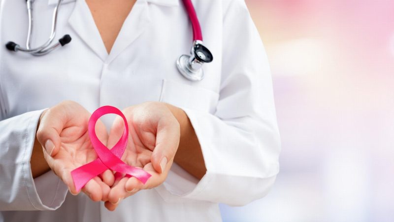
<svg viewBox="0 0 394 222">
<path fill-rule="evenodd" d="M 164 103 L 147 102 L 123 110 L 129 124 L 129 142 L 122 160 L 134 167 L 143 168 L 151 178 L 142 184 L 134 177 L 115 174 L 114 185 L 105 207 L 115 210 L 121 199 L 138 190 L 161 185 L 171 168 L 180 139 L 179 122 Z M 108 137 L 108 147 L 113 147 L 124 130 L 122 118 L 116 118 Z"/>
</svg>

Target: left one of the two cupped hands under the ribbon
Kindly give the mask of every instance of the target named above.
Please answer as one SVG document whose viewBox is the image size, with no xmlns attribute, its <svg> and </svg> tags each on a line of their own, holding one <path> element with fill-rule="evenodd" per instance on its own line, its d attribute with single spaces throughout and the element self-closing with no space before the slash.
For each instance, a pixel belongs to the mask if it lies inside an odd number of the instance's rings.
<svg viewBox="0 0 394 222">
<path fill-rule="evenodd" d="M 74 195 L 78 192 L 71 171 L 97 158 L 88 133 L 90 116 L 91 113 L 78 103 L 62 102 L 42 113 L 36 134 L 44 148 L 44 157 L 49 167 Z M 108 135 L 102 122 L 96 124 L 96 134 L 103 144 L 107 143 Z M 109 170 L 100 176 L 90 180 L 82 188 L 93 201 L 106 201 L 114 182 L 114 175 Z"/>
</svg>

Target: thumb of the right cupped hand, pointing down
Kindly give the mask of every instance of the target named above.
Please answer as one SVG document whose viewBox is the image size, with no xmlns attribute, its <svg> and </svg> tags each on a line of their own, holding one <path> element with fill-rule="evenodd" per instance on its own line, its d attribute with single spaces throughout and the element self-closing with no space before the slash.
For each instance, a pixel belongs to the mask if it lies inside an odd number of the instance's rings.
<svg viewBox="0 0 394 222">
<path fill-rule="evenodd" d="M 179 146 L 179 138 L 179 123 L 175 117 L 159 121 L 156 147 L 151 157 L 151 162 L 157 172 L 163 173 L 168 162 L 174 158 Z"/>
</svg>

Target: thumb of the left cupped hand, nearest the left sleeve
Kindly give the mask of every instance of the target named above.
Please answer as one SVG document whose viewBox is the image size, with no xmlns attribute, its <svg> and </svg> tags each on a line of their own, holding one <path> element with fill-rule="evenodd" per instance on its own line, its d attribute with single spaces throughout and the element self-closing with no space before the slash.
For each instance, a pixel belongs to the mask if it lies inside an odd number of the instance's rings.
<svg viewBox="0 0 394 222">
<path fill-rule="evenodd" d="M 41 114 L 36 137 L 49 156 L 55 156 L 59 152 L 63 118 L 59 111 L 52 108 Z"/>
</svg>

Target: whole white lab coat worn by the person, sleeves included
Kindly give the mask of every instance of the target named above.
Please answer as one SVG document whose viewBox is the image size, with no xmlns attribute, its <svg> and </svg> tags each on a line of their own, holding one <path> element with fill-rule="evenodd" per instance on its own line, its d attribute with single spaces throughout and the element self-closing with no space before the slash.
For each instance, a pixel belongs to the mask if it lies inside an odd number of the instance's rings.
<svg viewBox="0 0 394 222">
<path fill-rule="evenodd" d="M 72 41 L 48 55 L 10 52 L 25 46 L 25 0 L 0 0 L 0 221 L 221 221 L 218 203 L 263 197 L 279 171 L 272 82 L 263 44 L 243 0 L 194 0 L 204 44 L 214 56 L 205 78 L 191 82 L 175 61 L 189 54 L 191 24 L 179 0 L 137 0 L 108 55 L 84 0 L 64 0 L 56 39 Z M 50 34 L 57 0 L 35 0 L 32 46 Z M 84 194 L 67 194 L 52 172 L 33 180 L 38 118 L 64 100 L 89 111 L 163 101 L 186 111 L 207 172 L 200 180 L 174 164 L 165 183 L 123 200 L 115 212 Z M 107 123 L 110 126 L 110 123 Z"/>
</svg>

